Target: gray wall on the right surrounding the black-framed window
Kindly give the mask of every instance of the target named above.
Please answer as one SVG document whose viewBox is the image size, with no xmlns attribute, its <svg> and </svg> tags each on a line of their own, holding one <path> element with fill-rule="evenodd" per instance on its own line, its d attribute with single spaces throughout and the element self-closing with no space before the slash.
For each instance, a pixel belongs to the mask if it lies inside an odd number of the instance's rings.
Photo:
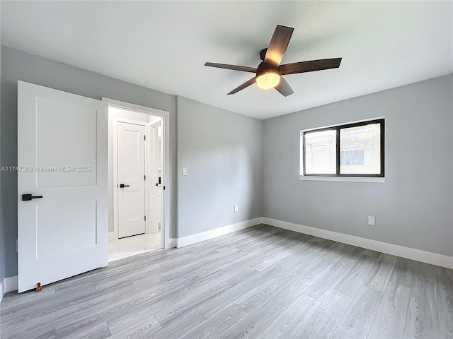
<svg viewBox="0 0 453 339">
<path fill-rule="evenodd" d="M 444 76 L 265 120 L 264 216 L 453 256 L 452 98 Z M 382 116 L 384 184 L 299 180 L 302 129 Z"/>
</svg>

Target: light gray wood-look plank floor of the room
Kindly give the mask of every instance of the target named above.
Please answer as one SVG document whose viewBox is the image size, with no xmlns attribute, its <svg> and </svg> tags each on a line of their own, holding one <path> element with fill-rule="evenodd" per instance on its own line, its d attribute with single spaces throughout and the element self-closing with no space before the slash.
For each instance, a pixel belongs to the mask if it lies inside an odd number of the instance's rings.
<svg viewBox="0 0 453 339">
<path fill-rule="evenodd" d="M 0 304 L 6 338 L 449 338 L 453 270 L 259 225 Z"/>
</svg>

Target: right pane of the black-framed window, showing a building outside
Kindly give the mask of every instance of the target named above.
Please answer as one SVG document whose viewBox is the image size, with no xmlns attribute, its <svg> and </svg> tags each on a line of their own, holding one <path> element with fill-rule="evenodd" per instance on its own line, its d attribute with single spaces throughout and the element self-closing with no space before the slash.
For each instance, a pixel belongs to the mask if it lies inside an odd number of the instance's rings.
<svg viewBox="0 0 453 339">
<path fill-rule="evenodd" d="M 340 174 L 381 172 L 381 125 L 340 129 Z"/>
</svg>

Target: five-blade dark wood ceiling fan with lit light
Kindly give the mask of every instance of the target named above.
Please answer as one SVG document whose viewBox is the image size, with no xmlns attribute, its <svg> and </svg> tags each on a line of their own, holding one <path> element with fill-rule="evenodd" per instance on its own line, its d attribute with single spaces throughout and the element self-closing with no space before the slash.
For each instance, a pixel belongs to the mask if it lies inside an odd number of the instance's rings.
<svg viewBox="0 0 453 339">
<path fill-rule="evenodd" d="M 247 66 L 236 66 L 229 64 L 214 64 L 207 62 L 205 66 L 217 67 L 218 69 L 231 69 L 233 71 L 243 71 L 256 73 L 256 76 L 246 81 L 234 90 L 231 90 L 228 95 L 238 93 L 240 90 L 256 83 L 259 88 L 275 88 L 282 95 L 287 97 L 292 95 L 294 91 L 287 81 L 282 76 L 286 74 L 305 73 L 312 71 L 321 71 L 323 69 L 336 69 L 340 66 L 341 58 L 321 59 L 311 61 L 294 62 L 293 64 L 280 65 L 283 56 L 291 39 L 294 28 L 277 25 L 272 39 L 270 39 L 269 47 L 261 50 L 260 59 L 263 60 L 257 68 Z"/>
</svg>

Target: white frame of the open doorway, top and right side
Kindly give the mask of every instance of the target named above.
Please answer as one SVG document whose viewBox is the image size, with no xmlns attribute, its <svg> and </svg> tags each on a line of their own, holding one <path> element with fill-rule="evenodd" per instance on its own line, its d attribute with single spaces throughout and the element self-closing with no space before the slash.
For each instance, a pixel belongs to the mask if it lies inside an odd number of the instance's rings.
<svg viewBox="0 0 453 339">
<path fill-rule="evenodd" d="M 132 110 L 135 112 L 139 112 L 139 113 L 151 114 L 151 115 L 155 115 L 157 117 L 161 117 L 161 119 L 162 119 L 162 136 L 164 138 L 164 143 L 162 145 L 162 155 L 164 157 L 163 170 L 162 170 L 162 186 L 168 186 L 167 178 L 170 178 L 170 156 L 168 154 L 169 150 L 170 150 L 170 138 L 169 138 L 169 128 L 168 128 L 170 113 L 167 111 L 163 111 L 161 109 L 155 109 L 155 108 L 151 108 L 151 107 L 135 105 L 135 104 L 131 104 L 130 102 L 122 102 L 119 100 L 110 99 L 108 97 L 102 97 L 102 101 L 107 102 L 109 107 L 127 109 L 127 110 Z M 137 123 L 137 121 L 135 123 Z M 147 133 L 147 134 L 149 134 L 149 133 Z M 110 159 L 109 159 L 109 161 L 110 161 Z M 111 167 L 109 165 L 109 169 L 110 168 Z M 113 175 L 113 173 L 109 173 L 108 175 L 109 176 Z M 169 234 L 170 234 L 170 208 L 169 208 L 170 194 L 166 193 L 167 190 L 168 190 L 168 187 L 166 187 L 166 189 L 162 190 L 161 232 L 162 232 L 162 239 L 163 239 L 162 247 L 164 249 L 170 248 L 170 239 L 169 239 Z M 109 205 L 109 208 L 113 208 L 113 206 Z M 115 213 L 113 213 L 113 214 L 115 214 Z M 110 213 L 109 213 L 109 216 L 110 216 Z"/>
</svg>

